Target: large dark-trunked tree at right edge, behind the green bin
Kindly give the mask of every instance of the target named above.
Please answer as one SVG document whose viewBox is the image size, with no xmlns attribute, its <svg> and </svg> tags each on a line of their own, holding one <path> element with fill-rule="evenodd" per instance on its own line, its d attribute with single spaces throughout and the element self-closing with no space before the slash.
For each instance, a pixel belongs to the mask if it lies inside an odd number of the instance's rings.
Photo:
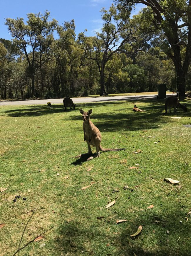
<svg viewBox="0 0 191 256">
<path fill-rule="evenodd" d="M 160 29 L 163 38 L 163 50 L 172 59 L 180 95 L 185 95 L 186 76 L 191 60 L 191 0 L 115 0 L 131 9 L 135 4 L 144 4 L 148 15 L 147 22 Z M 182 50 L 184 48 L 184 50 Z"/>
</svg>

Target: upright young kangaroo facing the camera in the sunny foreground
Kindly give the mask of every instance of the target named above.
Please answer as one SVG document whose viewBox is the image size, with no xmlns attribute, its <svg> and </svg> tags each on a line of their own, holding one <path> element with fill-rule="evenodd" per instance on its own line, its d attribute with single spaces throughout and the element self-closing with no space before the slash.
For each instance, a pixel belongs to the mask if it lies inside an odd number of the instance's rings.
<svg viewBox="0 0 191 256">
<path fill-rule="evenodd" d="M 88 153 L 76 156 L 76 158 L 81 156 L 91 155 L 92 151 L 91 151 L 90 145 L 96 147 L 96 155 L 90 156 L 87 159 L 87 161 L 93 159 L 94 157 L 99 157 L 100 156 L 99 150 L 103 152 L 124 150 L 124 149 L 103 149 L 102 146 L 100 145 L 101 133 L 99 129 L 90 121 L 90 115 L 92 113 L 92 109 L 88 110 L 88 112 L 84 112 L 82 109 L 79 109 L 79 110 L 83 118 L 83 137 L 84 137 L 84 141 L 86 141 L 88 144 Z"/>
</svg>

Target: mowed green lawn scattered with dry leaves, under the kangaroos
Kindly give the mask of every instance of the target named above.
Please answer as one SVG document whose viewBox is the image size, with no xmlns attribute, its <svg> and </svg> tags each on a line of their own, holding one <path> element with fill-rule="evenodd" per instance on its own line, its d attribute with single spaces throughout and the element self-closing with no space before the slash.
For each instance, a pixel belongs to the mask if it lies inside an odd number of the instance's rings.
<svg viewBox="0 0 191 256">
<path fill-rule="evenodd" d="M 33 211 L 20 247 L 53 229 L 18 255 L 191 255 L 191 100 L 171 115 L 164 101 L 1 106 L 0 255 L 18 249 Z M 87 152 L 79 108 L 93 109 L 103 147 L 126 150 L 75 159 Z"/>
</svg>

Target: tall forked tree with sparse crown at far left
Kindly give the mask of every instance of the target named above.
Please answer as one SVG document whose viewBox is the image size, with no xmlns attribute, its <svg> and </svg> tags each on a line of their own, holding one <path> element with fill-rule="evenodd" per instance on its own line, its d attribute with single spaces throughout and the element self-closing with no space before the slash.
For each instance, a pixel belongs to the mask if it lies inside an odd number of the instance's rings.
<svg viewBox="0 0 191 256">
<path fill-rule="evenodd" d="M 53 33 L 57 21 L 53 19 L 48 21 L 50 13 L 27 14 L 27 25 L 23 18 L 11 19 L 7 18 L 5 24 L 8 26 L 8 31 L 14 38 L 14 44 L 26 55 L 29 65 L 29 74 L 31 78 L 31 92 L 32 97 L 35 94 L 35 52 L 41 48 L 43 39 Z M 31 49 L 29 55 L 28 49 Z"/>
</svg>

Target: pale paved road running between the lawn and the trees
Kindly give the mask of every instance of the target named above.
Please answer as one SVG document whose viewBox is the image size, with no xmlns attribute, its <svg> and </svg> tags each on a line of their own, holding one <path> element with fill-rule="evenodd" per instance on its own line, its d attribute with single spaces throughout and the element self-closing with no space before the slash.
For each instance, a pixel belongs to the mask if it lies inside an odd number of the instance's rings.
<svg viewBox="0 0 191 256">
<path fill-rule="evenodd" d="M 166 94 L 170 96 L 172 94 Z M 101 102 L 101 101 L 119 101 L 119 100 L 128 100 L 128 101 L 138 101 L 138 100 L 149 100 L 156 99 L 157 95 L 140 95 L 140 96 L 104 96 L 104 97 L 81 97 L 81 98 L 72 98 L 74 103 L 88 103 L 88 102 Z M 0 106 L 6 105 L 39 105 L 46 104 L 50 101 L 52 104 L 63 104 L 63 98 L 61 99 L 50 99 L 50 100 L 19 100 L 19 101 L 0 101 Z"/>
</svg>

